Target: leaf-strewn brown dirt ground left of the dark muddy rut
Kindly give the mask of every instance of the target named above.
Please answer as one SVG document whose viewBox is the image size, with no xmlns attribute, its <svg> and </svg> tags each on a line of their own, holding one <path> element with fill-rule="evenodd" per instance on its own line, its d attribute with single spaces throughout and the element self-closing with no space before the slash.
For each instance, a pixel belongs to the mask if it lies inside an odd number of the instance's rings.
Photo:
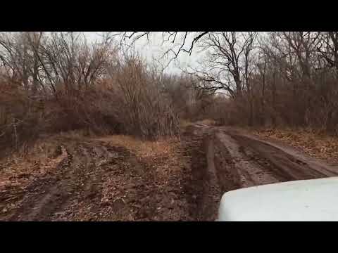
<svg viewBox="0 0 338 253">
<path fill-rule="evenodd" d="M 54 168 L 27 173 L 28 183 L 12 176 L 0 192 L 2 221 L 189 221 L 184 192 L 189 159 L 178 141 L 169 153 L 133 152 L 114 138 L 65 140 Z M 2 175 L 3 176 L 3 175 Z M 4 179 L 2 177 L 1 179 Z M 25 184 L 25 186 L 23 186 Z"/>
</svg>

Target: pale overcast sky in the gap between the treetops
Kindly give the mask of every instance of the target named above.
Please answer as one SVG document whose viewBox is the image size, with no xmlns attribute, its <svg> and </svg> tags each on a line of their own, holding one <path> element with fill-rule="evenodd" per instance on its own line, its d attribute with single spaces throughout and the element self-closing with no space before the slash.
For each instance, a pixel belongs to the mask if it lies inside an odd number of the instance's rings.
<svg viewBox="0 0 338 253">
<path fill-rule="evenodd" d="M 99 34 L 101 34 L 101 32 L 84 32 L 84 34 L 86 35 L 86 37 L 91 40 L 94 41 L 95 39 L 99 39 L 100 36 Z M 183 34 L 179 34 L 177 35 L 177 42 L 182 41 L 182 36 Z M 193 35 L 193 34 L 192 34 Z M 186 40 L 186 44 L 187 46 L 185 46 L 185 48 L 189 49 L 190 46 L 190 42 L 192 37 L 188 37 Z M 146 37 L 142 37 L 141 39 L 139 39 L 137 41 L 137 44 L 135 45 L 135 49 L 137 49 L 137 51 L 139 51 L 139 53 L 146 58 L 146 60 L 151 63 L 153 61 L 153 58 L 156 58 L 158 60 L 161 60 L 161 64 L 166 65 L 168 63 L 168 60 L 170 58 L 163 58 L 160 59 L 161 56 L 163 56 L 163 52 L 167 51 L 169 47 L 173 47 L 176 48 L 176 51 L 178 50 L 178 46 L 180 46 L 179 44 L 172 44 L 170 42 L 165 42 L 165 44 L 162 45 L 162 32 L 152 32 L 151 36 L 149 37 L 149 41 L 147 41 Z M 184 68 L 187 67 L 187 65 L 192 65 L 192 66 L 196 66 L 197 65 L 197 61 L 201 58 L 202 53 L 199 53 L 199 49 L 198 48 L 194 48 L 194 51 L 192 52 L 192 55 L 189 56 L 188 53 L 180 53 L 180 55 L 178 56 L 177 60 L 172 63 L 170 63 L 170 65 L 168 65 L 168 68 L 165 70 L 165 72 L 168 73 L 180 73 L 180 67 Z M 173 56 L 173 54 L 171 54 L 170 56 Z"/>
</svg>

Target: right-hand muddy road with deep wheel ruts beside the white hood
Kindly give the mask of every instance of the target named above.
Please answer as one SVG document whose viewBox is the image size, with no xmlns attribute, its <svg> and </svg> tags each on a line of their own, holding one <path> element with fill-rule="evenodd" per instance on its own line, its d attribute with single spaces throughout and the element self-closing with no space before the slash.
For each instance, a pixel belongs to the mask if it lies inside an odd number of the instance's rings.
<svg viewBox="0 0 338 253">
<path fill-rule="evenodd" d="M 205 170 L 192 171 L 201 182 L 197 207 L 200 220 L 216 218 L 220 197 L 228 190 L 338 175 L 337 167 L 238 129 L 195 124 L 191 131 L 204 136 L 201 150 L 206 155 L 205 164 L 199 168 Z"/>
</svg>

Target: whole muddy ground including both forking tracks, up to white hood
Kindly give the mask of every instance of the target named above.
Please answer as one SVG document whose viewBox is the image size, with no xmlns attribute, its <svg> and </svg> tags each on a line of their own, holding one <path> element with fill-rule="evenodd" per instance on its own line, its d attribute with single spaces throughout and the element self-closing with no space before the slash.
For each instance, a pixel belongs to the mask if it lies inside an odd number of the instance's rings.
<svg viewBox="0 0 338 253">
<path fill-rule="evenodd" d="M 61 143 L 52 169 L 2 184 L 0 221 L 213 221 L 228 190 L 338 174 L 288 146 L 202 124 L 170 156 L 149 159 L 100 139 Z"/>
</svg>

